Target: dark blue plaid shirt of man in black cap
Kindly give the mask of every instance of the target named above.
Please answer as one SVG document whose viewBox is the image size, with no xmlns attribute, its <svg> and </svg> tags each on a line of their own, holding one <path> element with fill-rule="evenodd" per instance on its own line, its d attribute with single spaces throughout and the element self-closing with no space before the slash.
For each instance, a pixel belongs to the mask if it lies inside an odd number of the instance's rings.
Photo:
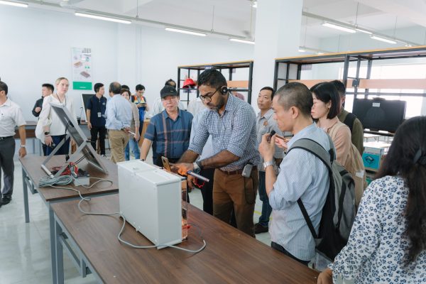
<svg viewBox="0 0 426 284">
<path fill-rule="evenodd" d="M 191 126 L 192 114 L 181 109 L 175 121 L 165 110 L 153 116 L 144 136 L 153 141 L 153 159 L 180 158 L 190 145 Z"/>
</svg>

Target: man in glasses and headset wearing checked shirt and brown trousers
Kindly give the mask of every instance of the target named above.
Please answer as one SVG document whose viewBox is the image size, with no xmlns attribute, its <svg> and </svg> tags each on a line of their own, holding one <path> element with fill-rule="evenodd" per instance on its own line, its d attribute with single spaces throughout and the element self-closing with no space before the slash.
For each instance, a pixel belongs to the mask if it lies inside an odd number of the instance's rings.
<svg viewBox="0 0 426 284">
<path fill-rule="evenodd" d="M 229 223 L 234 210 L 237 228 L 254 237 L 253 213 L 260 162 L 256 114 L 250 104 L 229 94 L 221 72 L 205 70 L 197 84 L 200 98 L 209 111 L 200 120 L 190 147 L 175 168 L 181 175 L 187 175 L 188 170 L 200 173 L 214 168 L 214 217 Z M 213 155 L 195 162 L 209 136 L 212 136 Z M 195 184 L 192 176 L 188 175 L 187 180 L 190 187 Z"/>
</svg>

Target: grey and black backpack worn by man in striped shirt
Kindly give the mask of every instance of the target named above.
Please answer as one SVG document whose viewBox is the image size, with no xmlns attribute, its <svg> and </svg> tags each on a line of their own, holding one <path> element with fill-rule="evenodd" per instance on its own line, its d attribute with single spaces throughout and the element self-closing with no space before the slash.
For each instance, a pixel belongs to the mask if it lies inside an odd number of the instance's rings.
<svg viewBox="0 0 426 284">
<path fill-rule="evenodd" d="M 330 145 L 334 145 L 329 137 Z M 306 212 L 302 200 L 297 204 L 305 217 L 307 226 L 315 239 L 317 252 L 334 261 L 349 239 L 352 224 L 354 224 L 355 209 L 355 182 L 351 174 L 335 160 L 334 148 L 326 151 L 319 143 L 309 138 L 302 138 L 288 149 L 300 148 L 315 155 L 329 170 L 330 185 L 322 208 L 319 234 L 317 235 Z"/>
</svg>

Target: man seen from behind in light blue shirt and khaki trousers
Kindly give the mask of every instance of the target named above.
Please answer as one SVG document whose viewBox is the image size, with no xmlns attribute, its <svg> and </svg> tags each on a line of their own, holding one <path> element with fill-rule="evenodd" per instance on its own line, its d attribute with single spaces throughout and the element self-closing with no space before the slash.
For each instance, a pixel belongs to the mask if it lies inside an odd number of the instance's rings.
<svg viewBox="0 0 426 284">
<path fill-rule="evenodd" d="M 121 97 L 121 84 L 112 82 L 109 84 L 109 99 L 107 103 L 107 124 L 109 145 L 111 146 L 111 161 L 113 163 L 122 162 L 124 158 L 124 148 L 129 142 L 129 131 L 131 123 L 131 105 Z"/>
</svg>

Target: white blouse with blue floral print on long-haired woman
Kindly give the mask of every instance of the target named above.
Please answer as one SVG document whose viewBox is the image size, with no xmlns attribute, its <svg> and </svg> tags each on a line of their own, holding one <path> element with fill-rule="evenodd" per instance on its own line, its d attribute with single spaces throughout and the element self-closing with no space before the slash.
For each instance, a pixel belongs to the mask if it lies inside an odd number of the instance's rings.
<svg viewBox="0 0 426 284">
<path fill-rule="evenodd" d="M 348 244 L 329 267 L 354 283 L 426 283 L 426 251 L 403 266 L 409 241 L 403 235 L 408 187 L 403 178 L 386 176 L 371 182 L 362 197 Z M 426 206 L 426 204 L 425 204 Z"/>
</svg>

